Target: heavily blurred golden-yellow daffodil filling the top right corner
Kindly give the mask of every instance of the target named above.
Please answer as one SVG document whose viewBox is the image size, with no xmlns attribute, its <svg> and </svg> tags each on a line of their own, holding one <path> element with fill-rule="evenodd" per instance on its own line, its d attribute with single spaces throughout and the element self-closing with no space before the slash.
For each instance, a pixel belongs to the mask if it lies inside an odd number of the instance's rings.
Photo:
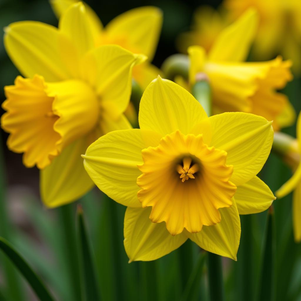
<svg viewBox="0 0 301 301">
<path fill-rule="evenodd" d="M 254 54 L 260 60 L 275 54 L 293 61 L 293 70 L 301 70 L 301 1 L 299 0 L 225 0 L 230 18 L 235 19 L 248 8 L 259 12 L 259 29 L 254 44 Z"/>
</svg>

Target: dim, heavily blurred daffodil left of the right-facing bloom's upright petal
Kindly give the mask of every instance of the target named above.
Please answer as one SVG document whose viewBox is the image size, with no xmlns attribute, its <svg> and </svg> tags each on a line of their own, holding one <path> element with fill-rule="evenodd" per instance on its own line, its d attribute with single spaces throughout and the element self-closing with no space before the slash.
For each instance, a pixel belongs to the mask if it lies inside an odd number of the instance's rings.
<svg viewBox="0 0 301 301">
<path fill-rule="evenodd" d="M 192 30 L 181 33 L 176 41 L 177 48 L 187 53 L 192 45 L 203 47 L 209 51 L 219 33 L 228 25 L 224 11 L 217 11 L 211 6 L 198 8 L 193 15 Z"/>
</svg>

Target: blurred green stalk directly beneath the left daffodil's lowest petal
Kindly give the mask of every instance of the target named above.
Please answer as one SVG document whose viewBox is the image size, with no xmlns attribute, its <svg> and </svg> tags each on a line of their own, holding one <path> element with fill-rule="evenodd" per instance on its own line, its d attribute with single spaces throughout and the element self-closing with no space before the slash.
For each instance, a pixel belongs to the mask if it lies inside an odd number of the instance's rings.
<svg viewBox="0 0 301 301">
<path fill-rule="evenodd" d="M 61 223 L 64 255 L 67 262 L 68 275 L 70 277 L 70 289 L 73 300 L 82 300 L 81 278 L 79 269 L 78 246 L 76 240 L 75 210 L 73 204 L 59 207 L 58 215 Z"/>
</svg>

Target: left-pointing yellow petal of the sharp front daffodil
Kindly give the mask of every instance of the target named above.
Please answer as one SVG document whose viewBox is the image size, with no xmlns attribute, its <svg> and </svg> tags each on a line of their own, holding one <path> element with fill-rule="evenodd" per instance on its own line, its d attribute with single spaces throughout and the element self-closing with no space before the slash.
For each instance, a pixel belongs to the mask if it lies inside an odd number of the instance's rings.
<svg viewBox="0 0 301 301">
<path fill-rule="evenodd" d="M 141 207 L 136 184 L 141 175 L 141 150 L 159 144 L 151 131 L 129 129 L 110 132 L 91 144 L 83 155 L 84 166 L 98 188 L 118 203 Z"/>
</svg>

